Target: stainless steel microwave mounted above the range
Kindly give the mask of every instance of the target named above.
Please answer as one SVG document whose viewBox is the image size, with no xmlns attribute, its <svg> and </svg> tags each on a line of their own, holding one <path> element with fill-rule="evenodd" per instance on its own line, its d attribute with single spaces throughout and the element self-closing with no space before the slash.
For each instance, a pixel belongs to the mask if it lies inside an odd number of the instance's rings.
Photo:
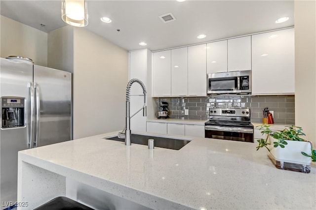
<svg viewBox="0 0 316 210">
<path fill-rule="evenodd" d="M 207 74 L 207 94 L 251 94 L 251 70 Z"/>
</svg>

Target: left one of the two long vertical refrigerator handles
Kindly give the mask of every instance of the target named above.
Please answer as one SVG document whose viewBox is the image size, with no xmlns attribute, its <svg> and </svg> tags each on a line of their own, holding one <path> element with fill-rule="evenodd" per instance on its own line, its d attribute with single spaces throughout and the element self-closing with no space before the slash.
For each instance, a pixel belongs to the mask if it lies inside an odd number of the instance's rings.
<svg viewBox="0 0 316 210">
<path fill-rule="evenodd" d="M 33 148 L 33 142 L 35 141 L 35 90 L 34 83 L 28 83 L 29 93 L 30 93 L 30 126 L 28 126 L 28 148 Z"/>
</svg>

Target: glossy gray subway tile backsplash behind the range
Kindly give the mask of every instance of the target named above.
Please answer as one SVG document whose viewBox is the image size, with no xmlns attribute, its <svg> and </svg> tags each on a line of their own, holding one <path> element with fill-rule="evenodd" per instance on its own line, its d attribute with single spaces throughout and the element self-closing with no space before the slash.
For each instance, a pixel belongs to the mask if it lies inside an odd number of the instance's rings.
<svg viewBox="0 0 316 210">
<path fill-rule="evenodd" d="M 209 107 L 248 107 L 252 122 L 262 122 L 262 111 L 265 107 L 274 111 L 275 123 L 295 123 L 294 95 L 265 95 L 265 96 L 216 96 L 216 97 L 171 97 L 156 98 L 157 106 L 160 101 L 169 104 L 169 117 L 173 119 L 207 120 L 206 110 Z M 189 109 L 189 115 L 184 110 Z"/>
</svg>

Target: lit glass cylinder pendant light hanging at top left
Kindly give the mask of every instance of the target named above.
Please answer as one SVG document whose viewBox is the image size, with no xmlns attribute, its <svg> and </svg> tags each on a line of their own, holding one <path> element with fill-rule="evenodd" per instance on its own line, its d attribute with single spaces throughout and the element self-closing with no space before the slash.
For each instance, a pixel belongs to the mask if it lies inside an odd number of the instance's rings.
<svg viewBox="0 0 316 210">
<path fill-rule="evenodd" d="M 86 0 L 63 0 L 61 4 L 61 18 L 71 26 L 87 26 L 88 10 Z"/>
</svg>

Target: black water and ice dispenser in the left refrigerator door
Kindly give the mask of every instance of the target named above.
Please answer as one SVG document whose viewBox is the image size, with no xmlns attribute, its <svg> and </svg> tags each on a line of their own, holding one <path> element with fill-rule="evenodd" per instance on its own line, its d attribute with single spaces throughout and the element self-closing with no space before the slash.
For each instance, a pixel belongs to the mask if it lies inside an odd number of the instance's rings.
<svg viewBox="0 0 316 210">
<path fill-rule="evenodd" d="M 1 128 L 25 126 L 25 98 L 1 97 Z"/>
</svg>

